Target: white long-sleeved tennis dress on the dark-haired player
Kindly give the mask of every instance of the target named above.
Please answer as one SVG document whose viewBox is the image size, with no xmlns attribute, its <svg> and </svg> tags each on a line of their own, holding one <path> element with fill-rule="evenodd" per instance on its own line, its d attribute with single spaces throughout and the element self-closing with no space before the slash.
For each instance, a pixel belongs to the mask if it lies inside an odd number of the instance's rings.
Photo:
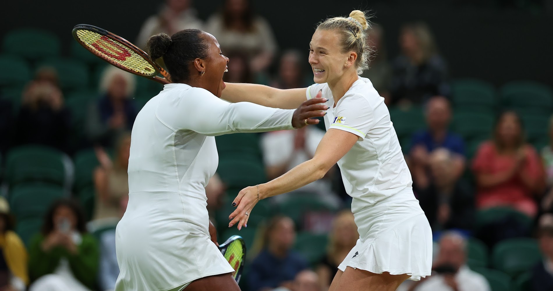
<svg viewBox="0 0 553 291">
<path fill-rule="evenodd" d="M 228 103 L 186 84 L 165 85 L 148 101 L 132 130 L 115 290 L 178 290 L 233 272 L 208 233 L 205 186 L 218 164 L 214 136 L 292 129 L 293 113 Z"/>
</svg>

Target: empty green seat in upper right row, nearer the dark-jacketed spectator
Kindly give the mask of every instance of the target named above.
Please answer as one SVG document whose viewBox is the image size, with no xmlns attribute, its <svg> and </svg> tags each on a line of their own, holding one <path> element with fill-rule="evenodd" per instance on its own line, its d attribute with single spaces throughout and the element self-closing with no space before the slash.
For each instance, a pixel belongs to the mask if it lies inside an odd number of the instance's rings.
<svg viewBox="0 0 553 291">
<path fill-rule="evenodd" d="M 476 79 L 453 81 L 453 106 L 456 110 L 494 112 L 497 100 L 492 84 Z"/>
</svg>

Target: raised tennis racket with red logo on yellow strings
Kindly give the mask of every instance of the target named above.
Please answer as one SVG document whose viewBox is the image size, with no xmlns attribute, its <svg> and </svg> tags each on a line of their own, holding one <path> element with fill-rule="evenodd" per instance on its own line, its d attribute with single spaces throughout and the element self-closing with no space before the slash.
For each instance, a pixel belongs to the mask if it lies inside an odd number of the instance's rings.
<svg viewBox="0 0 553 291">
<path fill-rule="evenodd" d="M 126 39 L 88 24 L 75 25 L 72 34 L 85 49 L 109 64 L 161 84 L 170 83 L 168 72 L 150 60 L 147 53 Z M 159 74 L 163 77 L 158 76 Z"/>
</svg>

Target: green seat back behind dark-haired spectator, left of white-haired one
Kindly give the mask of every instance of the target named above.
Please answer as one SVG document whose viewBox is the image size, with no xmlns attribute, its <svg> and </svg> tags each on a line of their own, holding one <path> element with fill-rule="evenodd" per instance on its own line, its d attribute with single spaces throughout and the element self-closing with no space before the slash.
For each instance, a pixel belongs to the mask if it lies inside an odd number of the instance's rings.
<svg viewBox="0 0 553 291">
<path fill-rule="evenodd" d="M 72 59 L 48 59 L 41 66 L 54 67 L 58 72 L 60 86 L 64 91 L 88 89 L 88 68 L 81 61 Z"/>
</svg>

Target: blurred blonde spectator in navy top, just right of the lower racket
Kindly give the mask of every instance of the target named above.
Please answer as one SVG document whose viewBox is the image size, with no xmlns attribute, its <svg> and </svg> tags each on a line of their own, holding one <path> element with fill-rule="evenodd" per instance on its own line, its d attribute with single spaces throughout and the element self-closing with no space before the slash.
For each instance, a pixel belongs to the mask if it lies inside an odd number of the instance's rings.
<svg viewBox="0 0 553 291">
<path fill-rule="evenodd" d="M 291 250 L 295 239 L 294 221 L 290 217 L 276 216 L 269 221 L 263 235 L 263 250 L 253 259 L 247 277 L 249 290 L 293 289 L 294 278 L 307 268 L 305 259 Z"/>
</svg>

